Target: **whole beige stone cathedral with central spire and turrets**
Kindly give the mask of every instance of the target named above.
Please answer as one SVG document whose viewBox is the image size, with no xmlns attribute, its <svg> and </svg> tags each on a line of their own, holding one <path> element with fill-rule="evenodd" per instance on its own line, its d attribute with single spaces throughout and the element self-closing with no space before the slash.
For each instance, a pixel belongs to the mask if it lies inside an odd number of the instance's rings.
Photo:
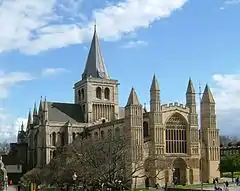
<svg viewBox="0 0 240 191">
<path fill-rule="evenodd" d="M 26 133 L 30 169 L 49 163 L 58 146 L 71 143 L 87 127 L 96 138 L 114 129 L 128 131 L 131 139 L 138 140 L 132 142 L 132 151 L 138 149 L 146 167 L 141 172 L 146 176 L 135 182 L 139 187 L 146 182 L 171 184 L 174 178 L 180 184 L 194 184 L 220 176 L 215 101 L 207 85 L 201 98 L 201 127 L 191 79 L 186 104 L 162 104 L 154 76 L 149 91 L 150 111 L 143 108 L 134 89 L 126 106 L 119 107 L 118 85 L 107 72 L 95 29 L 82 79 L 74 84 L 74 103 L 41 99 L 39 106 L 35 104 L 29 112 Z M 150 156 L 157 158 L 152 169 L 147 168 Z M 149 178 L 151 174 L 157 176 Z"/>
</svg>

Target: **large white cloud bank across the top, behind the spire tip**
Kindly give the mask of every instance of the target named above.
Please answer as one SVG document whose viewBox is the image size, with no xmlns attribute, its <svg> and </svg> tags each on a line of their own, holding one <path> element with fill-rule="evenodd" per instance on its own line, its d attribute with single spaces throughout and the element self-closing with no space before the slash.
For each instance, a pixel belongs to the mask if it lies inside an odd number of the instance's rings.
<svg viewBox="0 0 240 191">
<path fill-rule="evenodd" d="M 0 25 L 4 27 L 0 33 L 0 52 L 19 50 L 36 54 L 86 42 L 92 36 L 95 19 L 102 38 L 120 39 L 122 35 L 169 17 L 187 0 L 125 0 L 93 10 L 90 20 L 80 11 L 81 2 L 2 0 Z"/>
</svg>

